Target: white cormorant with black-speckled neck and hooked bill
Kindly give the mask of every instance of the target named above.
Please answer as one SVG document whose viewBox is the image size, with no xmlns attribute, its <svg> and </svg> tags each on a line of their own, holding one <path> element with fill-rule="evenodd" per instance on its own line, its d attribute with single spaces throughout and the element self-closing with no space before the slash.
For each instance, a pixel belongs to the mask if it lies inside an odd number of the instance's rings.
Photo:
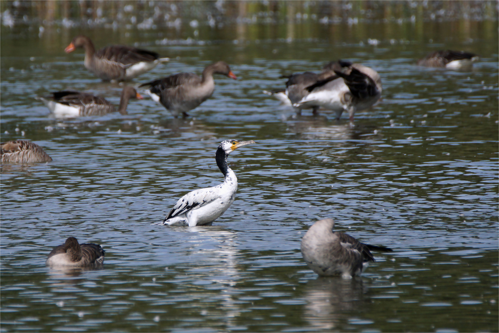
<svg viewBox="0 0 499 333">
<path fill-rule="evenodd" d="M 238 178 L 227 166 L 227 157 L 239 147 L 251 141 L 222 141 L 215 153 L 217 165 L 224 174 L 224 182 L 220 185 L 195 190 L 187 193 L 177 201 L 163 222 L 155 223 L 169 226 L 211 226 L 232 205 L 238 190 Z"/>
</svg>

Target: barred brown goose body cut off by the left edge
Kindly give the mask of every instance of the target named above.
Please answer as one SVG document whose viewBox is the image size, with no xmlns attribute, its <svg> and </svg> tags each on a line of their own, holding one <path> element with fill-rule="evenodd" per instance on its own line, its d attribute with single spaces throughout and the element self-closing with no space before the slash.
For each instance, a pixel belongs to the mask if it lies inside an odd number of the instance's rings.
<svg viewBox="0 0 499 333">
<path fill-rule="evenodd" d="M 38 163 L 52 162 L 52 158 L 36 143 L 14 140 L 0 143 L 1 162 Z"/>
</svg>

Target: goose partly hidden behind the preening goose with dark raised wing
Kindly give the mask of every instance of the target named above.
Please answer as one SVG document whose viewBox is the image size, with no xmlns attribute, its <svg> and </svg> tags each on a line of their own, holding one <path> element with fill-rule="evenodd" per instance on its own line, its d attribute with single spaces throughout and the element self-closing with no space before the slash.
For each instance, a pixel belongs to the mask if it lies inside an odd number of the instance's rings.
<svg viewBox="0 0 499 333">
<path fill-rule="evenodd" d="M 304 72 L 299 74 L 283 75 L 280 78 L 288 79 L 286 81 L 285 89 L 274 89 L 270 91 L 263 90 L 263 93 L 277 98 L 284 105 L 293 105 L 309 94 L 309 91 L 307 90 L 308 86 L 316 83 L 317 81 L 334 76 L 334 70 L 342 70 L 343 67 L 350 65 L 351 63 L 346 61 L 331 61 L 322 67 L 322 71 L 319 74 Z M 301 110 L 304 108 L 311 108 L 312 113 L 316 114 L 319 109 L 319 105 L 315 105 L 313 103 L 299 105 L 296 108 L 297 113 L 301 113 Z"/>
</svg>

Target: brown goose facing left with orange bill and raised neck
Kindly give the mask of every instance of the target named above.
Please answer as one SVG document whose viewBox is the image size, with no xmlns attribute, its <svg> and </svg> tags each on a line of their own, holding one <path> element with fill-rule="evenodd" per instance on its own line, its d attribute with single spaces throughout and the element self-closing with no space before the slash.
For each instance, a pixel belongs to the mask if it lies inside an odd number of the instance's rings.
<svg viewBox="0 0 499 333">
<path fill-rule="evenodd" d="M 105 81 L 129 80 L 170 60 L 160 58 L 156 52 L 126 45 L 110 45 L 95 51 L 90 38 L 83 35 L 74 37 L 64 51 L 69 53 L 78 47 L 85 50 L 85 67 Z"/>
</svg>

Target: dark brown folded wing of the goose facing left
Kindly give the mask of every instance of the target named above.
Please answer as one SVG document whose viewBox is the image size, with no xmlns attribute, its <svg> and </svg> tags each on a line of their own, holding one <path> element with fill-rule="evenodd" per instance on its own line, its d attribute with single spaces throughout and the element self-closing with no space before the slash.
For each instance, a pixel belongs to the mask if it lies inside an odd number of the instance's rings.
<svg viewBox="0 0 499 333">
<path fill-rule="evenodd" d="M 133 65 L 142 61 L 154 61 L 159 58 L 158 53 L 126 45 L 106 46 L 95 52 L 95 56 L 109 61 Z"/>
</svg>

